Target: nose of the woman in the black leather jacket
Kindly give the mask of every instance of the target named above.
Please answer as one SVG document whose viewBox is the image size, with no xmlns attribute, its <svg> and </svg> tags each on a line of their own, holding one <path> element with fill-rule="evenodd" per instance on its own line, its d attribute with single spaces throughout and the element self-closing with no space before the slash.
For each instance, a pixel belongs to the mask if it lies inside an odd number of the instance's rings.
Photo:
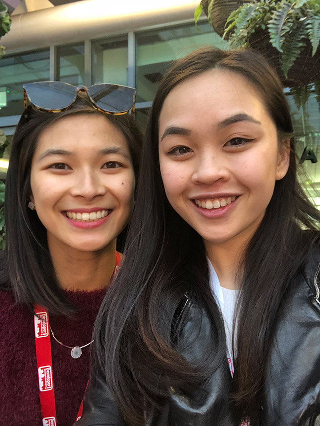
<svg viewBox="0 0 320 426">
<path fill-rule="evenodd" d="M 217 181 L 226 182 L 230 178 L 228 161 L 223 155 L 206 152 L 198 158 L 192 174 L 194 184 L 212 184 Z"/>
</svg>

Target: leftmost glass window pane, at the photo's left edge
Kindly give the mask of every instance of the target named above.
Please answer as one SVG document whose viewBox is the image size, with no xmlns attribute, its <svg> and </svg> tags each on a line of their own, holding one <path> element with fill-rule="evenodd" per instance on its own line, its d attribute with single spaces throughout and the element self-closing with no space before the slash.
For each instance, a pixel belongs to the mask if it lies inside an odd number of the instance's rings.
<svg viewBox="0 0 320 426">
<path fill-rule="evenodd" d="M 49 68 L 49 49 L 4 56 L 0 61 L 0 116 L 22 114 L 22 85 L 49 80 Z"/>
</svg>

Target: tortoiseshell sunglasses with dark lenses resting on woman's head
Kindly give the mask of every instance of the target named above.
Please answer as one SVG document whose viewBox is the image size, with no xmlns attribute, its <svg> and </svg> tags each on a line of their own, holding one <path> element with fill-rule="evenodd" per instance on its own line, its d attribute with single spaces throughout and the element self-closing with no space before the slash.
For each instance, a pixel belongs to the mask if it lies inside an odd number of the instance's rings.
<svg viewBox="0 0 320 426">
<path fill-rule="evenodd" d="M 77 99 L 79 92 L 87 93 L 90 102 L 98 111 L 107 114 L 122 115 L 131 110 L 134 113 L 136 89 L 118 84 L 94 84 L 89 88 L 73 86 L 62 81 L 40 81 L 27 83 L 24 88 L 25 117 L 27 99 L 37 109 L 49 112 L 61 112 L 68 109 Z"/>
</svg>

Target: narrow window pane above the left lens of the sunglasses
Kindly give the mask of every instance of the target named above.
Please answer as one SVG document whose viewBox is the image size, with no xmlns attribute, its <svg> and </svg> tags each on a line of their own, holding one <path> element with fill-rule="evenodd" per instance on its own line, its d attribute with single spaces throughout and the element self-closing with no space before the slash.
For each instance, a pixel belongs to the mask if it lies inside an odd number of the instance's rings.
<svg viewBox="0 0 320 426">
<path fill-rule="evenodd" d="M 58 72 L 57 80 L 74 86 L 81 86 L 85 81 L 85 45 L 57 48 Z"/>
</svg>

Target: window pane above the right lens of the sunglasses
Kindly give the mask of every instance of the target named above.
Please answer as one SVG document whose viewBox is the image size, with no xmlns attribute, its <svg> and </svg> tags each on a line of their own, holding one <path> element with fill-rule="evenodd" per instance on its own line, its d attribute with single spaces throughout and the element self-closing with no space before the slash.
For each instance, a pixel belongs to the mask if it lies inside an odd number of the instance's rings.
<svg viewBox="0 0 320 426">
<path fill-rule="evenodd" d="M 92 44 L 92 84 L 128 85 L 127 36 Z"/>
</svg>

